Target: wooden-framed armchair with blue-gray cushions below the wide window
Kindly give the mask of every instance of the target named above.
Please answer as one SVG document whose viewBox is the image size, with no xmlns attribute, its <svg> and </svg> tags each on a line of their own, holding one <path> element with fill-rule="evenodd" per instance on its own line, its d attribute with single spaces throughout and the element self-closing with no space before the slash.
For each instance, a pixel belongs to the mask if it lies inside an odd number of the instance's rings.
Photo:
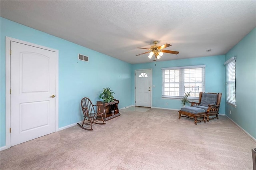
<svg viewBox="0 0 256 170">
<path fill-rule="evenodd" d="M 197 107 L 200 109 L 204 109 L 206 116 L 207 116 L 207 122 L 209 121 L 209 116 L 216 116 L 212 117 L 210 119 L 219 119 L 219 109 L 220 109 L 220 99 L 221 99 L 222 93 L 199 93 L 199 102 L 190 102 L 191 107 Z"/>
</svg>

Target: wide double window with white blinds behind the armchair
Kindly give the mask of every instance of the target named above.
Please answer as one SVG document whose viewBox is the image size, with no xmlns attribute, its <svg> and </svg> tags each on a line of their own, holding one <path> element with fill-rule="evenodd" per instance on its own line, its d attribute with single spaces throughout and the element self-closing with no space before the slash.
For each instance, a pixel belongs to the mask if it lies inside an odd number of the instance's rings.
<svg viewBox="0 0 256 170">
<path fill-rule="evenodd" d="M 198 99 L 205 91 L 205 65 L 162 68 L 162 97 Z"/>
</svg>

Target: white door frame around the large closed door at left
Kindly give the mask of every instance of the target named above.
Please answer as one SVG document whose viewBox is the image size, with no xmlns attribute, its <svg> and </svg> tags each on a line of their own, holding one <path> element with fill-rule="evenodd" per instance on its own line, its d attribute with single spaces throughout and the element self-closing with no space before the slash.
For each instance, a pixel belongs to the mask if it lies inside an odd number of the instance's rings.
<svg viewBox="0 0 256 170">
<path fill-rule="evenodd" d="M 10 44 L 11 44 L 11 41 L 56 52 L 56 106 L 55 106 L 56 107 L 56 132 L 59 130 L 59 100 L 58 100 L 59 50 L 44 47 L 42 45 L 37 45 L 30 42 L 25 42 L 15 38 L 6 37 L 6 149 L 10 148 L 10 104 L 11 104 L 10 103 L 10 80 L 11 80 L 10 79 L 10 69 L 11 69 L 10 68 Z"/>
</svg>

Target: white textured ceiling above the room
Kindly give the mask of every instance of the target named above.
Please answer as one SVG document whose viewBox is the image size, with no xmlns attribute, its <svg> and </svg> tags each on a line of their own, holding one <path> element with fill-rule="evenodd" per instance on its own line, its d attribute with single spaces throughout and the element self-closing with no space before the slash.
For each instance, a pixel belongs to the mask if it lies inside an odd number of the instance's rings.
<svg viewBox="0 0 256 170">
<path fill-rule="evenodd" d="M 0 1 L 1 17 L 128 63 L 226 54 L 256 26 L 256 1 Z M 212 49 L 206 52 L 207 49 Z M 84 54 L 86 55 L 86 53 Z"/>
</svg>

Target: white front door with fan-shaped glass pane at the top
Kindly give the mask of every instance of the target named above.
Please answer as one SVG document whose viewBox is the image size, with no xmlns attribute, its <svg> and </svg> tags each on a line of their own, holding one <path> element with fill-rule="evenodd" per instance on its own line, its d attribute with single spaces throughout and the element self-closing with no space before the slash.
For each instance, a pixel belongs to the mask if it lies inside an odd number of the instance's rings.
<svg viewBox="0 0 256 170">
<path fill-rule="evenodd" d="M 135 76 L 135 106 L 151 107 L 151 70 L 136 70 Z"/>
</svg>

